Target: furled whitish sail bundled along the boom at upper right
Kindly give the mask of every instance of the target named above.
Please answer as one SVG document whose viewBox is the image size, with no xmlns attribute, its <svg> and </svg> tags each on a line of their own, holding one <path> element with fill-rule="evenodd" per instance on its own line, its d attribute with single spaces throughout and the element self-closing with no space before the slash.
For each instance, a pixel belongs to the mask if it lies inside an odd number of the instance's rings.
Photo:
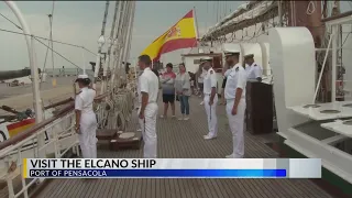
<svg viewBox="0 0 352 198">
<path fill-rule="evenodd" d="M 261 35 L 278 25 L 278 1 L 251 1 L 242 4 L 208 29 L 201 43 L 256 42 Z M 285 14 L 282 16 L 285 18 Z M 287 20 L 284 20 L 284 26 L 286 24 Z M 251 33 L 249 29 L 252 29 Z"/>
</svg>

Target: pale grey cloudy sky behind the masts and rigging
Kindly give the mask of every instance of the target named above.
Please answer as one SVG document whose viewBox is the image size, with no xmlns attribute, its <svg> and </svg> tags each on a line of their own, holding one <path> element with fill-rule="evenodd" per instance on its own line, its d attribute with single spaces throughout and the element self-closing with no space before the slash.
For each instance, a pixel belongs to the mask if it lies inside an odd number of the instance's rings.
<svg viewBox="0 0 352 198">
<path fill-rule="evenodd" d="M 239 1 L 139 1 L 134 18 L 132 35 L 131 57 L 136 57 L 151 42 L 169 26 L 177 22 L 185 13 L 196 7 L 199 32 L 217 22 L 218 15 L 226 15 L 233 11 Z M 16 1 L 18 7 L 28 20 L 35 35 L 48 37 L 50 24 L 47 14 L 52 10 L 52 1 Z M 105 1 L 56 1 L 53 23 L 53 38 L 84 45 L 92 52 L 97 52 L 97 40 L 100 35 Z M 114 1 L 110 2 L 106 37 L 110 34 L 111 20 L 113 15 Z M 18 23 L 15 16 L 6 3 L 0 3 L 0 13 Z M 13 24 L 0 16 L 0 28 L 11 31 L 18 30 Z M 29 65 L 25 41 L 23 36 L 0 32 L 2 62 L 1 69 L 19 69 Z M 45 42 L 47 43 L 47 42 Z M 36 58 L 38 67 L 44 66 L 46 48 L 36 43 Z M 81 66 L 84 62 L 96 59 L 95 55 L 85 53 L 79 48 L 54 44 L 54 50 Z M 179 62 L 183 51 L 170 53 L 162 57 L 165 62 Z M 50 56 L 51 58 L 51 56 Z M 51 59 L 46 68 L 52 68 Z M 54 55 L 55 67 L 74 67 L 63 58 Z"/>
</svg>

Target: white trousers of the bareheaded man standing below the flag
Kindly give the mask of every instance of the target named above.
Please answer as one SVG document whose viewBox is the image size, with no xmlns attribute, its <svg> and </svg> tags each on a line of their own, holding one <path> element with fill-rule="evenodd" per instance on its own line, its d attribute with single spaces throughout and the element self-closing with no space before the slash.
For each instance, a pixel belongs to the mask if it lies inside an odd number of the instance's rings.
<svg viewBox="0 0 352 198">
<path fill-rule="evenodd" d="M 140 114 L 141 109 L 139 109 Z M 144 158 L 156 158 L 157 154 L 157 136 L 156 136 L 156 116 L 157 103 L 148 103 L 144 110 L 144 119 L 139 119 L 144 141 Z"/>
</svg>

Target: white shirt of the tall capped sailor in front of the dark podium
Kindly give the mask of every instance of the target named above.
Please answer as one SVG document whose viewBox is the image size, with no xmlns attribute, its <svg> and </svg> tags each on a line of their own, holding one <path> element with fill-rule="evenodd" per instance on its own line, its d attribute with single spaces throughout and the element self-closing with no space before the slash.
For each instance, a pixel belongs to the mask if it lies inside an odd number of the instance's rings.
<svg viewBox="0 0 352 198">
<path fill-rule="evenodd" d="M 241 98 L 245 98 L 246 77 L 246 73 L 240 64 L 235 64 L 234 67 L 231 68 L 224 87 L 224 98 L 227 100 L 235 98 L 237 88 L 241 88 L 243 90 Z"/>
</svg>

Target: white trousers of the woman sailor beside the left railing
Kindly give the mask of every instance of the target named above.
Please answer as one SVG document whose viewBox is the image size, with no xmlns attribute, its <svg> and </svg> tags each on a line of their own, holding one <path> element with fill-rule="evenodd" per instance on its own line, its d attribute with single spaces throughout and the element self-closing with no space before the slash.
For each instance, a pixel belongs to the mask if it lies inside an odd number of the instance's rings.
<svg viewBox="0 0 352 198">
<path fill-rule="evenodd" d="M 81 113 L 78 140 L 84 158 L 97 158 L 97 128 L 96 113 Z"/>
</svg>

